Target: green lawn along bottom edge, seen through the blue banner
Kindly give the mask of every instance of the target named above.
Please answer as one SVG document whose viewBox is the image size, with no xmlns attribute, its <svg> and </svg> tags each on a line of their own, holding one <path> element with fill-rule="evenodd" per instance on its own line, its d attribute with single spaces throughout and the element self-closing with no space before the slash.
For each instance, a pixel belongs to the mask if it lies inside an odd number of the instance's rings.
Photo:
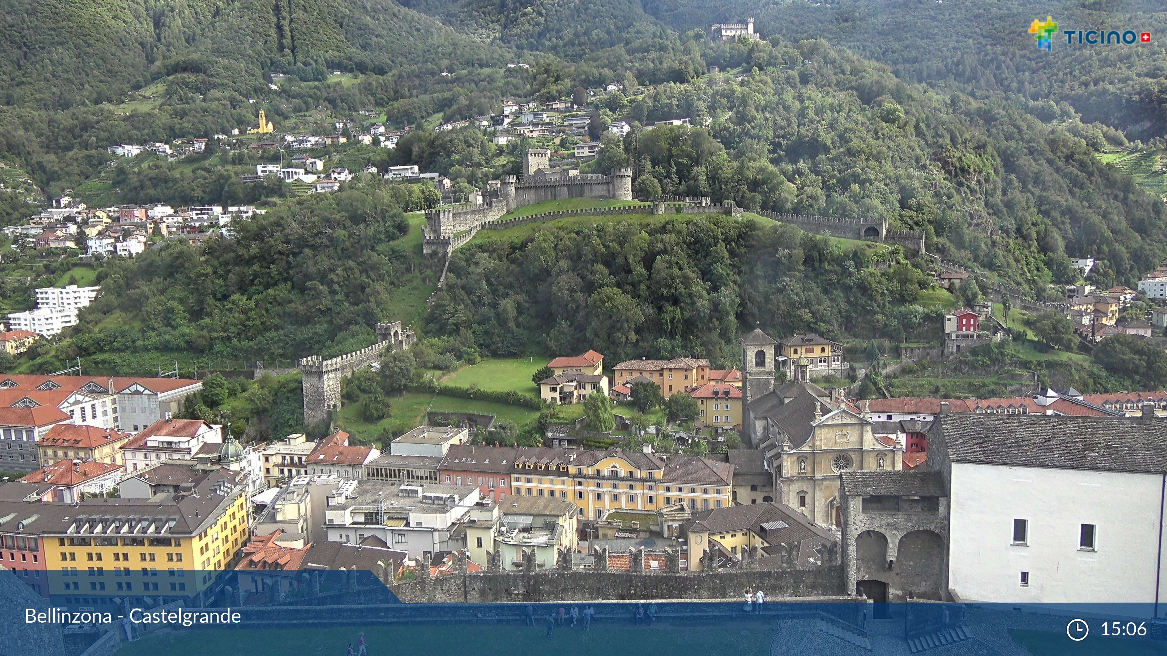
<svg viewBox="0 0 1167 656">
<path fill-rule="evenodd" d="M 369 656 L 428 654 L 453 656 L 467 649 L 483 654 L 553 652 L 564 656 L 624 654 L 671 656 L 762 656 L 775 628 L 755 622 L 657 622 L 654 627 L 598 623 L 591 631 L 560 628 L 552 640 L 543 624 L 435 624 L 404 627 L 203 629 L 166 633 L 127 643 L 117 656 L 341 656 L 365 634 Z M 473 645 L 473 647 L 471 647 Z M 356 647 L 354 645 L 354 650 Z"/>
</svg>

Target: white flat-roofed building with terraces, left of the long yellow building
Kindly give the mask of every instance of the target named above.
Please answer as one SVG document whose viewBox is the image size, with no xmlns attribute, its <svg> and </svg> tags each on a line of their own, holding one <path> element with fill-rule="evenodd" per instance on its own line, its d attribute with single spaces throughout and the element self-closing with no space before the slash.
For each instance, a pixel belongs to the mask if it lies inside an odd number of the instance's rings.
<svg viewBox="0 0 1167 656">
<path fill-rule="evenodd" d="M 376 536 L 411 557 L 453 551 L 450 532 L 482 497 L 474 486 L 397 486 L 345 481 L 324 510 L 329 542 L 359 544 Z"/>
</svg>

